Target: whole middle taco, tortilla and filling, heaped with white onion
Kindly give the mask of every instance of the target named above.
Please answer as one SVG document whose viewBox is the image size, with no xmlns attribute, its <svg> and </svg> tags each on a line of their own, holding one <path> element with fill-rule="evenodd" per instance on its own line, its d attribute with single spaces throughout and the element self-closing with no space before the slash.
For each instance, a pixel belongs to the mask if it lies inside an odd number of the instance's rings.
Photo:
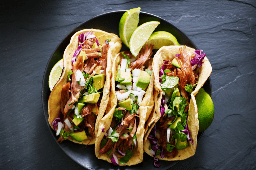
<svg viewBox="0 0 256 170">
<path fill-rule="evenodd" d="M 144 125 L 154 106 L 152 49 L 146 45 L 137 58 L 120 52 L 113 61 L 110 100 L 95 142 L 99 159 L 115 165 L 143 161 Z"/>
</svg>

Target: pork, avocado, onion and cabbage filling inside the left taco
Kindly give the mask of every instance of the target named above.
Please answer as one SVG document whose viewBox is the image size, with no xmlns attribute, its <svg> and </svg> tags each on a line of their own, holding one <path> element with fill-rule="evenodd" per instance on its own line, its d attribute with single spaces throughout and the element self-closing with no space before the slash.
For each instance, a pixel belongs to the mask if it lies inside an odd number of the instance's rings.
<svg viewBox="0 0 256 170">
<path fill-rule="evenodd" d="M 78 36 L 78 48 L 71 60 L 68 82 L 61 90 L 59 117 L 51 123 L 60 135 L 58 142 L 65 139 L 82 142 L 95 138 L 110 41 L 100 44 L 92 32 Z"/>
</svg>

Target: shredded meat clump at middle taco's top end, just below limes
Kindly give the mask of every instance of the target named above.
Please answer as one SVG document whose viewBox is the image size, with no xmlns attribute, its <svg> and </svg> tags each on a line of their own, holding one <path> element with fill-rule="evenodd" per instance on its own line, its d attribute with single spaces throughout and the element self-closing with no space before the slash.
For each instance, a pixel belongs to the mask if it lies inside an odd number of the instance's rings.
<svg viewBox="0 0 256 170">
<path fill-rule="evenodd" d="M 151 44 L 148 48 L 148 44 L 146 44 L 145 50 L 144 50 L 144 48 L 141 49 L 141 52 L 137 56 L 138 59 L 135 60 L 134 62 L 131 62 L 132 69 L 135 69 L 135 68 L 142 69 L 145 62 L 148 59 L 150 59 L 151 55 L 153 54 L 153 51 L 152 51 L 153 46 L 154 45 Z"/>
</svg>

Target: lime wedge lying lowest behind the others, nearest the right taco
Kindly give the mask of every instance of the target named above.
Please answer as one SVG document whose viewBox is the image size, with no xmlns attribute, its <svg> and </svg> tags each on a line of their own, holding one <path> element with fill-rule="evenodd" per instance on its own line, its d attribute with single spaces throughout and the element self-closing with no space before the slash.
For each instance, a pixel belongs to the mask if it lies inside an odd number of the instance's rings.
<svg viewBox="0 0 256 170">
<path fill-rule="evenodd" d="M 166 31 L 157 31 L 152 33 L 145 44 L 146 43 L 153 44 L 153 49 L 159 49 L 162 46 L 180 45 L 177 39 L 171 33 Z"/>
</svg>

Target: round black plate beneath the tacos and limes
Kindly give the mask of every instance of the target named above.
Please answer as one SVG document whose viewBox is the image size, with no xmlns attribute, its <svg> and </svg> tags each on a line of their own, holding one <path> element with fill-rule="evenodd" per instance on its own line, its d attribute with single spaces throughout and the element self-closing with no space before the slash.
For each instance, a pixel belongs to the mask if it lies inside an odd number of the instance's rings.
<svg viewBox="0 0 256 170">
<path fill-rule="evenodd" d="M 122 11 L 113 11 L 113 12 L 108 12 L 105 14 L 98 15 L 96 17 L 93 17 L 89 19 L 88 21 L 85 21 L 81 25 L 79 25 L 77 28 L 72 30 L 66 38 L 60 42 L 60 44 L 57 46 L 53 54 L 51 55 L 45 72 L 44 72 L 44 77 L 43 77 L 43 84 L 42 84 L 42 104 L 43 104 L 43 111 L 44 111 L 44 116 L 47 122 L 47 126 L 50 129 L 50 132 L 54 138 L 54 140 L 57 142 L 57 137 L 56 137 L 56 132 L 50 127 L 48 123 L 48 107 L 47 107 L 47 102 L 48 98 L 50 95 L 50 89 L 48 86 L 48 78 L 50 71 L 52 67 L 57 63 L 61 58 L 63 58 L 63 53 L 65 48 L 70 42 L 70 39 L 73 34 L 75 34 L 77 31 L 80 31 L 82 29 L 100 29 L 109 33 L 114 33 L 116 35 L 119 35 L 118 33 L 118 25 L 119 21 L 124 14 L 124 10 Z M 177 27 L 175 27 L 173 24 L 170 22 L 149 14 L 145 12 L 140 12 L 139 15 L 140 22 L 139 25 L 142 23 L 148 22 L 148 21 L 159 21 L 160 24 L 157 26 L 155 31 L 167 31 L 173 34 L 178 42 L 181 45 L 187 45 L 189 47 L 197 49 L 196 45 Z M 122 50 L 127 50 L 127 47 L 125 45 L 122 45 Z M 212 97 L 212 88 L 211 88 L 211 80 L 210 77 L 204 84 L 203 88 L 205 91 L 210 94 Z M 202 136 L 202 132 L 198 133 L 197 140 L 200 139 Z M 160 168 L 156 168 L 153 165 L 153 158 L 150 157 L 148 154 L 144 153 L 144 160 L 142 163 L 139 163 L 137 165 L 133 166 L 115 166 L 111 163 L 107 163 L 106 161 L 100 160 L 96 158 L 95 153 L 94 153 L 94 145 L 88 145 L 85 148 L 85 145 L 73 143 L 69 140 L 65 140 L 62 143 L 58 143 L 59 147 L 75 162 L 80 164 L 86 169 L 127 169 L 127 170 L 135 170 L 135 169 L 157 169 L 157 170 L 166 170 L 169 169 L 170 167 L 174 166 L 176 163 L 179 161 L 159 161 L 161 163 Z"/>
</svg>

